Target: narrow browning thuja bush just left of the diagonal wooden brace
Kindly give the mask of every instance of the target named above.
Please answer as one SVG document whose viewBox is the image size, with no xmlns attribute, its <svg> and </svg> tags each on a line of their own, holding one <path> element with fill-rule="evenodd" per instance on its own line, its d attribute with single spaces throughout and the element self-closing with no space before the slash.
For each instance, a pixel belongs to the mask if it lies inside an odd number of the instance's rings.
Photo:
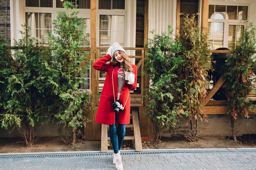
<svg viewBox="0 0 256 170">
<path fill-rule="evenodd" d="M 182 81 L 182 110 L 189 117 L 189 135 L 186 137 L 194 141 L 198 136 L 199 121 L 207 120 L 202 114 L 200 101 L 206 96 L 207 70 L 210 68 L 211 58 L 207 44 L 207 35 L 200 32 L 196 15 L 186 15 L 184 26 L 177 41 L 181 44 L 179 56 L 183 63 L 180 68 L 179 80 Z"/>
</svg>

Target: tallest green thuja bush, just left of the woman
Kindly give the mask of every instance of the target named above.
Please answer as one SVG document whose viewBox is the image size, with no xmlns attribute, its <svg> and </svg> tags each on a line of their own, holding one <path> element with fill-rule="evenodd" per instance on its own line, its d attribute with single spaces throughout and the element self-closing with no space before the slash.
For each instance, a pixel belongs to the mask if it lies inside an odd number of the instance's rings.
<svg viewBox="0 0 256 170">
<path fill-rule="evenodd" d="M 52 87 L 56 113 L 54 120 L 65 126 L 67 144 L 75 145 L 77 130 L 85 126 L 88 121 L 90 93 L 79 88 L 85 81 L 84 75 L 90 68 L 79 64 L 88 54 L 80 51 L 80 46 L 88 37 L 84 36 L 85 22 L 77 17 L 77 7 L 72 2 L 64 2 L 65 11 L 59 11 L 56 20 L 53 20 L 53 33 L 49 33 L 48 42 L 51 49 L 51 62 L 47 64 L 47 85 Z"/>
</svg>

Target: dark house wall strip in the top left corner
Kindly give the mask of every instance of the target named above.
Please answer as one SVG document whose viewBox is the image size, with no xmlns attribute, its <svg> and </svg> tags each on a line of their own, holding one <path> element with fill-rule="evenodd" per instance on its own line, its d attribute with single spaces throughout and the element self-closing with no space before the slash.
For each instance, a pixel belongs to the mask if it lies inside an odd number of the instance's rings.
<svg viewBox="0 0 256 170">
<path fill-rule="evenodd" d="M 11 43 L 10 0 L 0 0 L 0 32 L 1 39 Z"/>
</svg>

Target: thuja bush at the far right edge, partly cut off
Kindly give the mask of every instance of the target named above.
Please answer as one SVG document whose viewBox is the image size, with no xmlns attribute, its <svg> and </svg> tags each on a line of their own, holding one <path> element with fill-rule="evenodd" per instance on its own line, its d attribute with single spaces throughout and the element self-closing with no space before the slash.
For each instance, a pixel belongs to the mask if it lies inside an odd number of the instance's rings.
<svg viewBox="0 0 256 170">
<path fill-rule="evenodd" d="M 224 75 L 228 115 L 234 141 L 236 141 L 236 123 L 243 117 L 249 118 L 249 113 L 256 113 L 256 105 L 247 98 L 253 88 L 255 89 L 256 27 L 249 23 L 241 30 L 241 37 L 234 53 L 227 59 L 228 70 Z"/>
</svg>

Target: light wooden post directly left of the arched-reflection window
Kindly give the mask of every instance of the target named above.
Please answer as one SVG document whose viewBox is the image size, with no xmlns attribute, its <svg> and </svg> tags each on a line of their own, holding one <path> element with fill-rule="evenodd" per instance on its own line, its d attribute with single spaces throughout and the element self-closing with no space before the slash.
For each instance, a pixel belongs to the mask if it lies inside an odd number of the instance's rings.
<svg viewBox="0 0 256 170">
<path fill-rule="evenodd" d="M 202 0 L 201 10 L 201 31 L 208 32 L 208 15 L 209 15 L 209 0 Z"/>
</svg>

